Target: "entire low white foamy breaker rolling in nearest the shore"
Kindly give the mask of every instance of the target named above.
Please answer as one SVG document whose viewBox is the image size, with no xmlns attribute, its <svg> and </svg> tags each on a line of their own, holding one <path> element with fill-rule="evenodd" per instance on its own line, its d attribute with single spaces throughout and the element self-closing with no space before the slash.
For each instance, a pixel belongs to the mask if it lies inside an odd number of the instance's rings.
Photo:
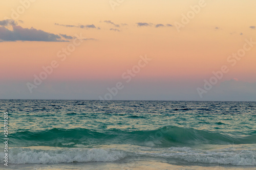
<svg viewBox="0 0 256 170">
<path fill-rule="evenodd" d="M 0 153 L 3 159 L 4 153 Z M 133 152 L 107 148 L 11 148 L 9 151 L 9 163 L 12 164 L 49 164 L 49 163 L 74 163 L 74 162 L 115 162 L 136 161 L 141 159 L 164 159 L 167 162 L 183 162 L 183 164 L 207 163 L 223 165 L 256 165 L 256 151 L 233 150 L 195 150 L 191 148 L 171 147 L 161 151 L 142 152 L 136 149 Z"/>
</svg>

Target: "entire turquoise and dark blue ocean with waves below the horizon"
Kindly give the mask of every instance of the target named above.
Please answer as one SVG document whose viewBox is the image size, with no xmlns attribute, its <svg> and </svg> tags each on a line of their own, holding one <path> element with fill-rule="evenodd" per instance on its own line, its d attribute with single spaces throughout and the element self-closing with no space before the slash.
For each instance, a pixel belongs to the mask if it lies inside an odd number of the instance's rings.
<svg viewBox="0 0 256 170">
<path fill-rule="evenodd" d="M 256 169 L 256 102 L 0 100 L 0 110 L 1 169 Z"/>
</svg>

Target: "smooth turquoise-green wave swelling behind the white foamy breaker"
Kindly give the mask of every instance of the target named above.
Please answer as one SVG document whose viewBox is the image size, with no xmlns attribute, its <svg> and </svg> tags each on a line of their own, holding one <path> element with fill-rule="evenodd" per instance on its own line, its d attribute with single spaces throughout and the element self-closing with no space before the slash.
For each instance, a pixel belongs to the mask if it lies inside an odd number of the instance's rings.
<svg viewBox="0 0 256 170">
<path fill-rule="evenodd" d="M 214 131 L 197 130 L 176 126 L 164 126 L 150 131 L 122 131 L 117 129 L 96 132 L 89 129 L 59 129 L 24 131 L 11 134 L 14 147 L 45 145 L 50 147 L 87 147 L 101 144 L 136 144 L 156 147 L 176 147 L 197 144 L 251 144 L 256 143 L 256 134 L 233 136 Z M 63 145 L 63 142 L 74 144 Z M 19 145 L 15 145 L 19 143 Z"/>
</svg>

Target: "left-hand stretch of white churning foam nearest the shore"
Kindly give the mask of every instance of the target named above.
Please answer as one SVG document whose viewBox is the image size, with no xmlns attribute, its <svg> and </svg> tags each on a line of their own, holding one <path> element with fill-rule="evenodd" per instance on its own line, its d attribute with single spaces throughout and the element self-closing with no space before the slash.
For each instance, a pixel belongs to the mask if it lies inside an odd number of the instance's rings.
<svg viewBox="0 0 256 170">
<path fill-rule="evenodd" d="M 3 158 L 4 153 L 0 153 Z M 125 156 L 122 151 L 103 149 L 53 149 L 38 150 L 30 148 L 11 148 L 9 163 L 13 164 L 47 164 L 71 162 L 113 162 Z"/>
</svg>

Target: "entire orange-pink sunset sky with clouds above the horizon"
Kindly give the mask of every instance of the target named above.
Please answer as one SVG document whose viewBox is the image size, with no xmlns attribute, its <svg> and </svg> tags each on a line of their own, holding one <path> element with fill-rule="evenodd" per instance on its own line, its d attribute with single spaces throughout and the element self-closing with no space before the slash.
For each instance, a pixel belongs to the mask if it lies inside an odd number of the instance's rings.
<svg viewBox="0 0 256 170">
<path fill-rule="evenodd" d="M 255 6 L 3 0 L 0 99 L 256 101 Z"/>
</svg>

